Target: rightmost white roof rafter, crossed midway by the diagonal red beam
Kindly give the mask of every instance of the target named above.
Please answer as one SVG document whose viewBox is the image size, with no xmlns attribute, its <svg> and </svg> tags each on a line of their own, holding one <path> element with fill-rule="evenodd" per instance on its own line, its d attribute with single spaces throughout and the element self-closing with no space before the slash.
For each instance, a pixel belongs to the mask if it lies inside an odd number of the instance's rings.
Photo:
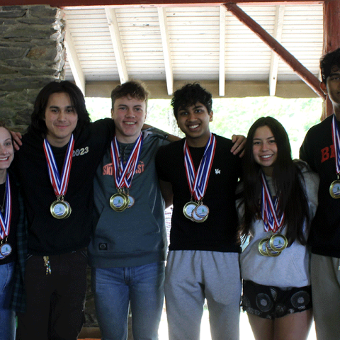
<svg viewBox="0 0 340 340">
<path fill-rule="evenodd" d="M 285 15 L 285 5 L 276 6 L 276 19 L 273 31 L 273 38 L 281 42 L 283 30 L 283 16 Z M 269 69 L 269 95 L 275 96 L 276 84 L 278 82 L 278 55 L 271 52 L 271 68 Z"/>
</svg>

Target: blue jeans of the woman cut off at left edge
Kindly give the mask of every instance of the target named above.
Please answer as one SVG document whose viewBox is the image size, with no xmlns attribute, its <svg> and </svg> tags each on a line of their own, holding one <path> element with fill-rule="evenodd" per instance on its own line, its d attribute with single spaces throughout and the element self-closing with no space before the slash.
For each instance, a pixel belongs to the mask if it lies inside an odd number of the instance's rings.
<svg viewBox="0 0 340 340">
<path fill-rule="evenodd" d="M 16 314 L 10 309 L 14 262 L 0 265 L 0 340 L 14 340 Z"/>
</svg>

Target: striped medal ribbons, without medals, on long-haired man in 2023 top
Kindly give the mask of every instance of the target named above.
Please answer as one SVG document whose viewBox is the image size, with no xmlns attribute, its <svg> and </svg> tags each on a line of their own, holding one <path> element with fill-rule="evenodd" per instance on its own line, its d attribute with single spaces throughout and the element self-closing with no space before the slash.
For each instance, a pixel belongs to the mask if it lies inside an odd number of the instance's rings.
<svg viewBox="0 0 340 340">
<path fill-rule="evenodd" d="M 71 136 L 69 140 L 69 146 L 64 158 L 64 165 L 62 166 L 62 177 L 60 177 L 57 164 L 55 162 L 55 155 L 52 152 L 50 143 L 45 138 L 44 151 L 47 161 L 48 174 L 50 175 L 50 181 L 55 191 L 55 196 L 64 197 L 67 192 L 67 186 L 69 185 L 69 174 L 71 173 L 71 164 L 74 148 L 74 137 Z"/>
</svg>

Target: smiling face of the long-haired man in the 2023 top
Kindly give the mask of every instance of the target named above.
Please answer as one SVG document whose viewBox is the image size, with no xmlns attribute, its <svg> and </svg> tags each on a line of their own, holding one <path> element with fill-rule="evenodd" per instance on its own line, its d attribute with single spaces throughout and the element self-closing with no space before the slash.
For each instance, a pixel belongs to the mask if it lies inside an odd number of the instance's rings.
<svg viewBox="0 0 340 340">
<path fill-rule="evenodd" d="M 69 94 L 65 92 L 51 94 L 45 109 L 46 138 L 50 145 L 55 147 L 67 145 L 77 122 L 78 115 Z"/>
</svg>

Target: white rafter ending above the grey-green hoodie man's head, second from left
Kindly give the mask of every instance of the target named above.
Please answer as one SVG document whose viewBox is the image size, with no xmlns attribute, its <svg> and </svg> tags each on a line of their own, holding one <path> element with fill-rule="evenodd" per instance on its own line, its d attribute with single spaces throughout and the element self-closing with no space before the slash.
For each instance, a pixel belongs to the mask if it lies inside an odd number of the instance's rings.
<svg viewBox="0 0 340 340">
<path fill-rule="evenodd" d="M 106 18 L 108 19 L 108 28 L 110 30 L 113 50 L 115 52 L 115 62 L 117 63 L 120 84 L 124 84 L 129 80 L 129 76 L 124 57 L 123 45 L 120 40 L 117 16 L 115 15 L 115 9 L 113 8 L 106 7 L 105 13 Z"/>
</svg>

